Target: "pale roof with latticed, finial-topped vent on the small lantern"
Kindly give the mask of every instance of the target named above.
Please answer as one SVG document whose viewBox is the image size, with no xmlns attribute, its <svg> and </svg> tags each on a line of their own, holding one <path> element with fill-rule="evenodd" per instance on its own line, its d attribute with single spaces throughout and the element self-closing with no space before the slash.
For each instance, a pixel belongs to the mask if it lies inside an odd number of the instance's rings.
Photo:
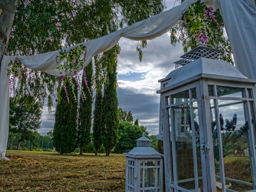
<svg viewBox="0 0 256 192">
<path fill-rule="evenodd" d="M 151 142 L 149 138 L 146 137 L 145 132 L 143 132 L 142 137 L 136 140 L 137 146 L 134 147 L 130 152 L 124 153 L 124 156 L 132 158 L 161 158 L 162 154 L 151 147 Z"/>
</svg>

